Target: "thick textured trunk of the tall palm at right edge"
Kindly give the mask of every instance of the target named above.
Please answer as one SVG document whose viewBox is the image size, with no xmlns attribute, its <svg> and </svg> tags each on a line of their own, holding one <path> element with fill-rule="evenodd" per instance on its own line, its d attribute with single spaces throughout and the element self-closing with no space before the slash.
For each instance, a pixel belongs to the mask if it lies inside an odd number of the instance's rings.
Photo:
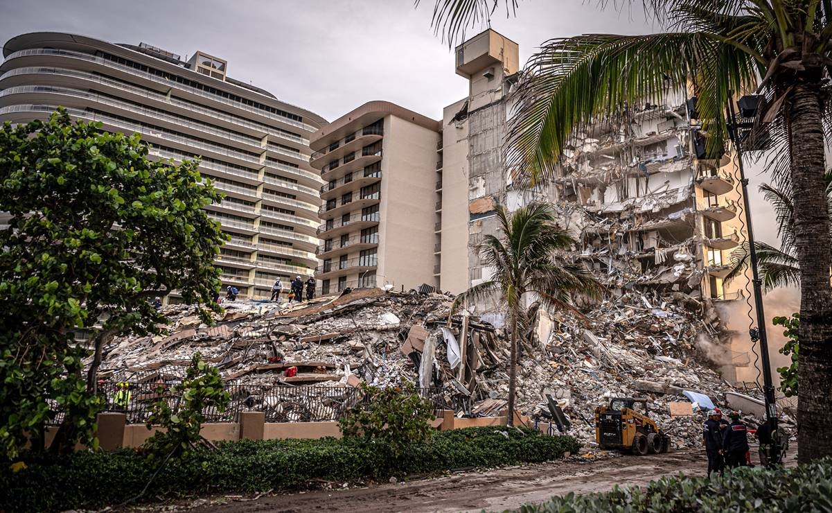
<svg viewBox="0 0 832 513">
<path fill-rule="evenodd" d="M 832 456 L 832 262 L 818 87 L 799 83 L 791 100 L 791 186 L 800 262 L 798 461 L 805 463 Z"/>
</svg>

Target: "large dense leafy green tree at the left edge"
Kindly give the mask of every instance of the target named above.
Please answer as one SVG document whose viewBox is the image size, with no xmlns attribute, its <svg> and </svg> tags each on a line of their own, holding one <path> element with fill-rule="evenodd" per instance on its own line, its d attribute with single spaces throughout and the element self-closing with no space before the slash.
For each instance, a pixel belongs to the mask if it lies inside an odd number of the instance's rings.
<svg viewBox="0 0 832 513">
<path fill-rule="evenodd" d="M 202 209 L 220 192 L 196 162 L 153 162 L 136 134 L 47 122 L 0 129 L 0 443 L 14 456 L 63 411 L 56 448 L 89 441 L 102 347 L 127 332 L 159 333 L 151 305 L 173 290 L 217 310 L 213 258 L 225 236 Z M 207 319 L 208 312 L 201 309 Z M 86 330 L 86 385 L 73 342 Z M 82 432 L 78 432 L 82 431 Z"/>
</svg>

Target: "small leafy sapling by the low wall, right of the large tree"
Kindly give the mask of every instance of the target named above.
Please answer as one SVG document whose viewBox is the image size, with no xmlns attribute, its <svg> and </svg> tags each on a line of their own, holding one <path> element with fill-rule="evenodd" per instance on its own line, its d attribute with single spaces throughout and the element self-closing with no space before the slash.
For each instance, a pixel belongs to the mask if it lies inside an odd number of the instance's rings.
<svg viewBox="0 0 832 513">
<path fill-rule="evenodd" d="M 191 358 L 185 379 L 173 387 L 173 392 L 173 396 L 181 398 L 181 401 L 171 408 L 164 397 L 164 390 L 160 389 L 161 398 L 153 403 L 151 416 L 147 419 L 147 429 L 154 425 L 166 429 L 145 442 L 144 447 L 151 461 L 186 456 L 201 440 L 200 430 L 206 420 L 206 409 L 221 413 L 231 401 L 220 371 L 202 360 L 200 353 Z"/>
</svg>

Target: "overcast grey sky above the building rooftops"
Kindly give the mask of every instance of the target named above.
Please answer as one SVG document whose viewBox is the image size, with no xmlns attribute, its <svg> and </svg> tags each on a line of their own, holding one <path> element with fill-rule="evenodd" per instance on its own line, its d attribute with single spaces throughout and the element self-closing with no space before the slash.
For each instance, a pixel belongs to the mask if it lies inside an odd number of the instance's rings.
<svg viewBox="0 0 832 513">
<path fill-rule="evenodd" d="M 492 27 L 521 61 L 550 37 L 648 32 L 641 12 L 599 11 L 594 0 L 523 0 Z M 108 42 L 146 42 L 183 58 L 229 62 L 229 76 L 333 120 L 369 100 L 439 118 L 467 94 L 453 54 L 433 35 L 433 0 L 0 0 L 0 42 L 52 30 Z M 469 30 L 473 35 L 479 30 Z"/>
</svg>

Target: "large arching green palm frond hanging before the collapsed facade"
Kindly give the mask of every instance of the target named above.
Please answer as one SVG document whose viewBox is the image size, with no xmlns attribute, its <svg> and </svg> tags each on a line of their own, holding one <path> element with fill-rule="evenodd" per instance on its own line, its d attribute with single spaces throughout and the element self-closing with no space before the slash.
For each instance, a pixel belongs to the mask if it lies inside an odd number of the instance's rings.
<svg viewBox="0 0 832 513">
<path fill-rule="evenodd" d="M 505 146 L 509 169 L 532 183 L 553 177 L 573 133 L 613 122 L 636 103 L 661 102 L 671 88 L 686 87 L 691 74 L 703 89 L 697 104 L 703 129 L 709 144 L 719 146 L 726 138 L 723 107 L 730 91 L 755 83 L 754 57 L 704 32 L 590 34 L 546 42 L 513 93 Z"/>
</svg>

